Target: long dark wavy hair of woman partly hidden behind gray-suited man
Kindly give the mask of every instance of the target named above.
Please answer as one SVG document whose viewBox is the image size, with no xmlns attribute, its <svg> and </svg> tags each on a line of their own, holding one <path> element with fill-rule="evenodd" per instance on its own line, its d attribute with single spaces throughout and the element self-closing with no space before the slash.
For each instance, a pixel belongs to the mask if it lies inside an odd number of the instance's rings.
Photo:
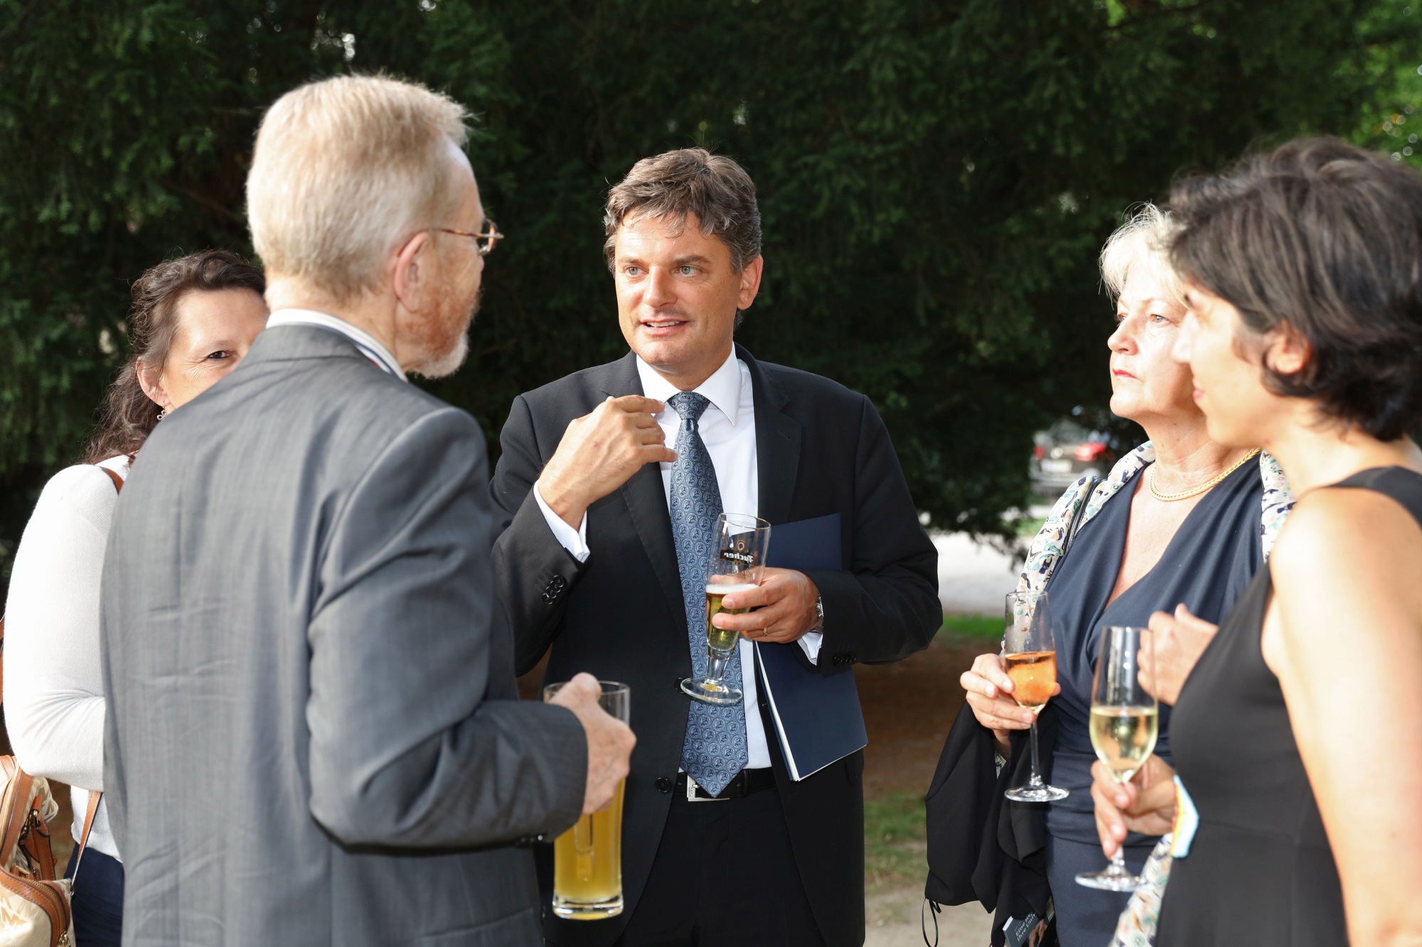
<svg viewBox="0 0 1422 947">
<path fill-rule="evenodd" d="M 202 250 L 165 260 L 134 282 L 134 309 L 128 314 L 128 341 L 134 354 L 108 388 L 98 427 L 85 449 L 85 464 L 119 454 L 132 456 L 158 425 L 158 405 L 138 384 L 139 367 L 162 370 L 178 328 L 178 301 L 192 291 L 247 289 L 266 291 L 262 270 L 228 250 Z"/>
</svg>

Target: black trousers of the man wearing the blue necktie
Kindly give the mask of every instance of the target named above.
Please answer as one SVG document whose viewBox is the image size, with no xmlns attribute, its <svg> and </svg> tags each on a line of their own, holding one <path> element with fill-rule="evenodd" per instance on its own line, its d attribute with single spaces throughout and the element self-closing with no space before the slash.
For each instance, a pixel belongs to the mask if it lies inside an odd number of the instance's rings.
<svg viewBox="0 0 1422 947">
<path fill-rule="evenodd" d="M 671 801 L 620 947 L 823 947 L 775 789 Z"/>
</svg>

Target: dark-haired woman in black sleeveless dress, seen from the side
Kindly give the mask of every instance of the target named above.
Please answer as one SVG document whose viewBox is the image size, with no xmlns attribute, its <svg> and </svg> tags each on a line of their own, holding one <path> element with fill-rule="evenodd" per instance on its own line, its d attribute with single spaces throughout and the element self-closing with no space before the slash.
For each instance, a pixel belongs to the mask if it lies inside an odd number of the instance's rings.
<svg viewBox="0 0 1422 947">
<path fill-rule="evenodd" d="M 1175 708 L 1156 944 L 1415 944 L 1422 178 L 1314 139 L 1187 181 L 1173 205 L 1176 355 L 1210 437 L 1270 451 L 1300 499 Z M 1103 795 L 1098 816 L 1119 819 Z"/>
</svg>

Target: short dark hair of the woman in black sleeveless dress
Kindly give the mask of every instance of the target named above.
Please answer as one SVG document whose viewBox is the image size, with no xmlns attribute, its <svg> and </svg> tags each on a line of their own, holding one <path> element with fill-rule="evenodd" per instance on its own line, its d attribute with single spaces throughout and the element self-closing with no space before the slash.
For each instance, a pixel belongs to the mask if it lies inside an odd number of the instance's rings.
<svg viewBox="0 0 1422 947">
<path fill-rule="evenodd" d="M 1264 365 L 1276 394 L 1381 441 L 1422 422 L 1422 175 L 1337 138 L 1253 155 L 1170 193 L 1176 269 L 1260 336 L 1287 323 L 1307 364 Z"/>
</svg>

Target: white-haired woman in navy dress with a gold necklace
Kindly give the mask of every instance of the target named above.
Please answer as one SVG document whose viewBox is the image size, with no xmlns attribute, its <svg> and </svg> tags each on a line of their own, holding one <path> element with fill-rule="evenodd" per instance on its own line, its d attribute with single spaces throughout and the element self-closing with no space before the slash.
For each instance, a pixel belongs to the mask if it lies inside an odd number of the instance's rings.
<svg viewBox="0 0 1422 947">
<path fill-rule="evenodd" d="M 1088 516 L 1071 555 L 1054 556 L 1058 529 L 1048 520 L 1028 556 L 1024 586 L 1045 587 L 1059 620 L 1057 668 L 1061 692 L 1051 782 L 1069 796 L 1047 813 L 1047 874 L 1064 947 L 1101 947 L 1116 927 L 1126 896 L 1075 883 L 1079 872 L 1105 867 L 1091 801 L 1088 735 L 1091 683 L 1103 624 L 1145 626 L 1150 614 L 1180 609 L 1179 634 L 1159 646 L 1160 698 L 1175 698 L 1185 673 L 1207 640 L 1199 633 L 1219 621 L 1263 562 L 1260 523 L 1271 461 L 1249 448 L 1209 438 L 1204 415 L 1192 398 L 1187 367 L 1172 347 L 1185 319 L 1180 284 L 1163 257 L 1170 222 L 1146 206 L 1102 252 L 1102 276 L 1116 296 L 1111 350 L 1111 410 L 1139 422 L 1150 441 L 1123 458 L 1078 515 Z M 1074 488 L 1076 489 L 1076 488 Z M 1068 496 L 1072 491 L 1068 491 Z M 1268 499 L 1277 499 L 1271 491 Z M 1058 503 L 1058 510 L 1066 505 Z M 1059 559 L 1059 562 L 1057 562 Z M 1192 620 L 1197 616 L 1200 620 Z M 978 722 L 994 731 L 1007 755 L 1008 731 L 1022 729 L 1031 712 L 1011 698 L 998 654 L 983 654 L 961 684 Z M 1162 707 L 1158 752 L 1169 759 L 1169 708 Z M 1022 803 L 1011 803 L 1022 805 Z M 1126 865 L 1139 870 L 1155 838 L 1133 836 Z"/>
</svg>

